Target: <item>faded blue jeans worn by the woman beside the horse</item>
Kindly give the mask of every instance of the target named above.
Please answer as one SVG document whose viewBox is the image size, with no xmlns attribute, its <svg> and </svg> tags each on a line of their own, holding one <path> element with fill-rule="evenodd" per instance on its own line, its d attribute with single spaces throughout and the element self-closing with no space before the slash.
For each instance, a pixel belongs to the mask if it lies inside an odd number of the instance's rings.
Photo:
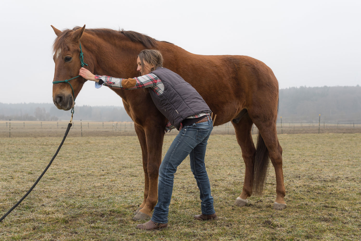
<svg viewBox="0 0 361 241">
<path fill-rule="evenodd" d="M 159 167 L 158 203 L 154 207 L 151 219 L 153 222 L 168 223 L 174 173 L 188 155 L 191 159 L 191 171 L 196 178 L 200 191 L 202 213 L 206 215 L 216 213 L 213 208 L 213 197 L 210 195 L 209 178 L 204 164 L 207 141 L 212 129 L 212 120 L 208 116 L 206 122 L 183 126 L 174 138 Z"/>
</svg>

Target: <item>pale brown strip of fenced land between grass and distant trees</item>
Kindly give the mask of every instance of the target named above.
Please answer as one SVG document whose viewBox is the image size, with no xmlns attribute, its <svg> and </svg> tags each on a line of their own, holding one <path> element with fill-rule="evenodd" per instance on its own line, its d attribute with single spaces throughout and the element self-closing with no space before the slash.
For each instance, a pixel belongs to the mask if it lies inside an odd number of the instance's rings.
<svg viewBox="0 0 361 241">
<path fill-rule="evenodd" d="M 64 132 L 69 121 L 0 121 L 0 137 L 36 137 L 58 136 Z M 278 134 L 295 133 L 360 133 L 361 121 L 356 122 L 280 122 L 277 121 Z M 97 122 L 74 120 L 70 136 L 103 136 L 103 135 L 132 135 L 136 134 L 134 122 Z M 253 124 L 252 134 L 257 134 L 257 126 Z M 177 134 L 173 129 L 167 134 Z M 212 134 L 234 135 L 235 130 L 231 122 L 214 126 Z"/>
</svg>

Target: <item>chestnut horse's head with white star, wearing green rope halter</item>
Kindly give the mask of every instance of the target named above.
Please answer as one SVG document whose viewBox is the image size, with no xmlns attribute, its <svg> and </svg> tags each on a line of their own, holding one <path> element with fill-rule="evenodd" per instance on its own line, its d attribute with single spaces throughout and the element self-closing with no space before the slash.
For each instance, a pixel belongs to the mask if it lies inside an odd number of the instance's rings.
<svg viewBox="0 0 361 241">
<path fill-rule="evenodd" d="M 64 81 L 78 76 L 81 68 L 79 48 L 80 39 L 85 30 L 82 28 L 74 28 L 73 30 L 60 31 L 53 27 L 57 38 L 53 45 L 53 60 L 55 63 L 54 81 Z M 53 102 L 58 109 L 68 111 L 74 107 L 74 99 L 82 89 L 86 80 L 81 76 L 69 80 L 69 83 L 61 82 L 53 84 Z M 71 89 L 73 87 L 73 90 Z"/>
</svg>

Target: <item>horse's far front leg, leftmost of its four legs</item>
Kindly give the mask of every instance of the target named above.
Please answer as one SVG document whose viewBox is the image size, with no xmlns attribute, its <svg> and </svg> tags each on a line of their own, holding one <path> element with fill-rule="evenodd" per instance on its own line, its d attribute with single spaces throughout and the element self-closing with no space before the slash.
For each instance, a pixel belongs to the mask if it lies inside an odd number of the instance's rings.
<svg viewBox="0 0 361 241">
<path fill-rule="evenodd" d="M 134 124 L 134 129 L 136 134 L 138 135 L 140 148 L 142 149 L 142 159 L 143 159 L 143 170 L 144 170 L 144 198 L 142 204 L 138 207 L 138 209 L 134 212 L 134 215 L 138 214 L 139 210 L 141 210 L 145 203 L 147 202 L 148 190 L 149 190 L 149 178 L 148 178 L 148 149 L 147 149 L 147 141 L 145 138 L 145 132 L 143 128 L 139 125 Z M 134 217 L 133 217 L 134 219 Z"/>
</svg>

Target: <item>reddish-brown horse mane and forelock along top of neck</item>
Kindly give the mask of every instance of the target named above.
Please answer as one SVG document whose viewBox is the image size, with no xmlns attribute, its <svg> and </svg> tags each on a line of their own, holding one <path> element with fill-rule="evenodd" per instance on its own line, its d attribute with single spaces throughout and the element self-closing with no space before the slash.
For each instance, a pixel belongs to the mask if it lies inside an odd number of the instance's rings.
<svg viewBox="0 0 361 241">
<path fill-rule="evenodd" d="M 74 27 L 73 29 L 65 29 L 61 32 L 60 36 L 58 36 L 53 44 L 53 51 L 55 52 L 57 49 L 61 49 L 61 50 L 67 50 L 68 46 L 66 45 L 66 39 L 73 35 L 74 31 L 77 29 L 80 29 L 81 27 L 77 26 Z M 138 42 L 144 45 L 144 47 L 146 48 L 153 48 L 157 45 L 157 42 L 165 42 L 165 43 L 169 43 L 169 44 L 173 44 L 167 41 L 159 41 L 156 40 L 152 37 L 149 37 L 146 34 L 141 34 L 138 33 L 136 31 L 125 31 L 124 29 L 120 29 L 120 30 L 113 30 L 113 29 L 104 29 L 104 28 L 100 28 L 100 29 L 85 29 L 86 32 L 92 32 L 92 33 L 97 33 L 97 34 L 101 34 L 101 35 L 109 35 L 109 34 L 122 34 L 125 37 L 127 37 L 128 39 L 130 39 L 132 42 Z"/>
</svg>

